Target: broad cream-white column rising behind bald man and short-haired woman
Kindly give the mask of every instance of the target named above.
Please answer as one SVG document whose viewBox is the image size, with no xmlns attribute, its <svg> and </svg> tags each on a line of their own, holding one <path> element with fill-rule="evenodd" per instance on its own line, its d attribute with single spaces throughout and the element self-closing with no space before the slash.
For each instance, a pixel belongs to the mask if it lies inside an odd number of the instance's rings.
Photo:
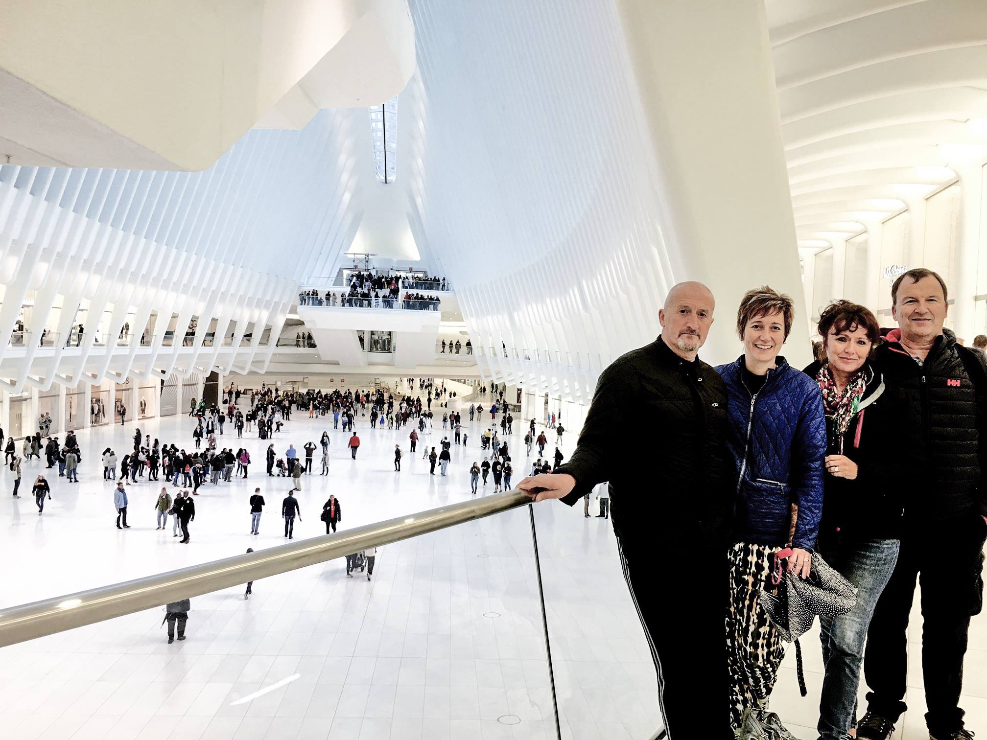
<svg viewBox="0 0 987 740">
<path fill-rule="evenodd" d="M 703 355 L 725 361 L 739 349 L 732 316 L 745 291 L 767 283 L 803 301 L 764 3 L 618 0 L 617 9 L 671 277 L 713 290 L 720 321 Z M 803 322 L 786 355 L 796 366 L 811 359 Z"/>
</svg>

